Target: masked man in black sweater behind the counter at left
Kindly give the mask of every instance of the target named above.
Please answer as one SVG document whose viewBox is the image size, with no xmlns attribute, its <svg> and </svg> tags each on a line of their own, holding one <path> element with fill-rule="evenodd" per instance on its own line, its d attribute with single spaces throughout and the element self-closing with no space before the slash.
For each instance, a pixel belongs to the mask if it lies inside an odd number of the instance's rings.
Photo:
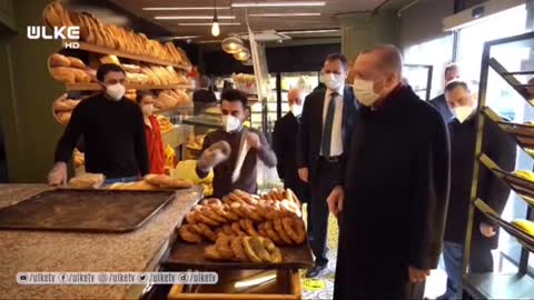
<svg viewBox="0 0 534 300">
<path fill-rule="evenodd" d="M 67 182 L 67 162 L 83 136 L 86 171 L 103 173 L 106 183 L 130 182 L 149 171 L 145 122 L 139 106 L 125 98 L 126 74 L 118 64 L 98 68 L 103 91 L 82 100 L 56 148 L 56 164 L 48 182 Z"/>
</svg>

